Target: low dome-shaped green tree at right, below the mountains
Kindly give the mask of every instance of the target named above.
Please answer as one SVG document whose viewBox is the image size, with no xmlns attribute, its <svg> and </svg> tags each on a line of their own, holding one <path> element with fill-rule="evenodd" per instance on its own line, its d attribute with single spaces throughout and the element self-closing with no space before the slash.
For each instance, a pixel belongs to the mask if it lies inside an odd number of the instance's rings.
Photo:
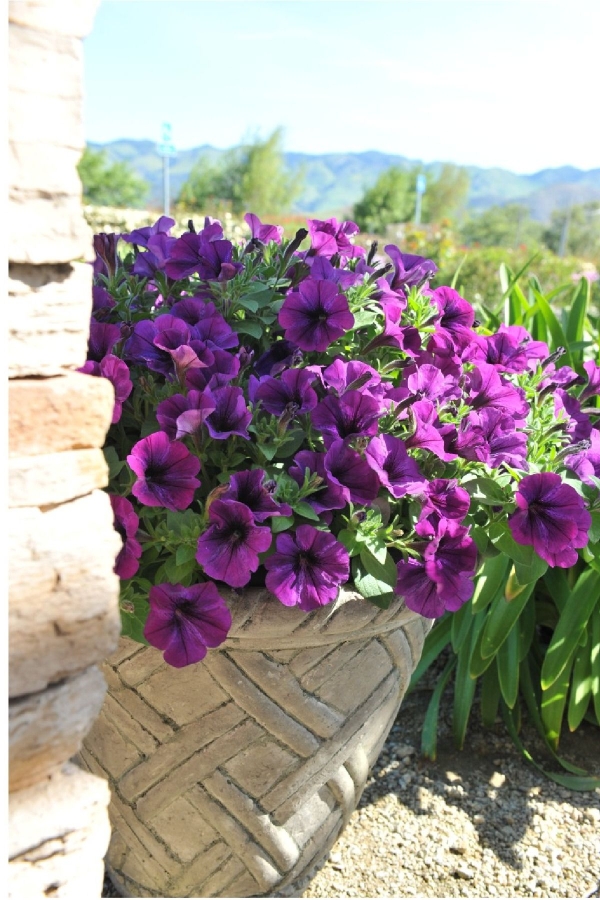
<svg viewBox="0 0 600 900">
<path fill-rule="evenodd" d="M 529 215 L 526 206 L 508 203 L 506 206 L 490 206 L 470 218 L 460 228 L 465 244 L 482 247 L 518 247 L 539 241 L 542 226 Z"/>
</svg>

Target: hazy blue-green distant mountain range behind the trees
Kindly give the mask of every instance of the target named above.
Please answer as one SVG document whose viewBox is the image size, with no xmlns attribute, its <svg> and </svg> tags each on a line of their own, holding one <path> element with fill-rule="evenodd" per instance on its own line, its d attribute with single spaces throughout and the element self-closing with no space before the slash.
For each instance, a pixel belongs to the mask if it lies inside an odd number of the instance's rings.
<svg viewBox="0 0 600 900">
<path fill-rule="evenodd" d="M 94 150 L 105 150 L 111 162 L 125 161 L 151 186 L 149 203 L 160 207 L 162 202 L 162 160 L 152 141 L 119 140 L 106 144 L 90 144 Z M 201 156 L 218 159 L 224 153 L 217 147 L 204 144 L 191 150 L 180 150 L 171 159 L 171 194 L 177 196 L 192 167 Z M 390 166 L 412 168 L 420 161 L 377 150 L 363 153 L 285 153 L 288 168 L 304 169 L 304 190 L 295 204 L 295 211 L 311 214 L 349 214 L 353 204 L 371 187 L 378 176 Z M 423 166 L 426 174 L 435 177 L 441 162 Z M 517 175 L 507 169 L 482 169 L 466 166 L 471 183 L 467 206 L 472 211 L 507 203 L 521 203 L 532 217 L 541 222 L 550 218 L 553 210 L 571 204 L 600 200 L 600 168 L 585 172 L 573 166 L 542 169 L 532 175 Z"/>
</svg>

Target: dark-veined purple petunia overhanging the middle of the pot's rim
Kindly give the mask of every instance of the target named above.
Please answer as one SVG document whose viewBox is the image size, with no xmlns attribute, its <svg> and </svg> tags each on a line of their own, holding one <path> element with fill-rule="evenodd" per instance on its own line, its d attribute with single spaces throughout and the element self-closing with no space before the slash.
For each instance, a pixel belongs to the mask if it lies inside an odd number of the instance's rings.
<svg viewBox="0 0 600 900">
<path fill-rule="evenodd" d="M 275 553 L 265 560 L 266 585 L 284 606 L 309 612 L 332 603 L 348 581 L 350 559 L 332 534 L 300 525 L 280 534 Z"/>
</svg>

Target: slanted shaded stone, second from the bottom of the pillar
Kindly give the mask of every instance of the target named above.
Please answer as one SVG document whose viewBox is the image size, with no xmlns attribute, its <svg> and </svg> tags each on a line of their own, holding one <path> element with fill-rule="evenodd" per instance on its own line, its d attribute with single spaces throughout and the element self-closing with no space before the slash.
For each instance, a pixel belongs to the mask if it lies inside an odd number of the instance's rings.
<svg viewBox="0 0 600 900">
<path fill-rule="evenodd" d="M 42 781 L 77 753 L 100 712 L 105 691 L 102 673 L 97 666 L 91 666 L 48 690 L 11 700 L 11 791 Z"/>
</svg>

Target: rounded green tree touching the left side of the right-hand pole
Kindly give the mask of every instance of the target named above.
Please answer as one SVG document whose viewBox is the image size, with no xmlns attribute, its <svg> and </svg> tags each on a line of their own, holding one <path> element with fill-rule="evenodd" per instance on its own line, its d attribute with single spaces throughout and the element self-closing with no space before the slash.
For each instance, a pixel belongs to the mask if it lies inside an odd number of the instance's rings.
<svg viewBox="0 0 600 900">
<path fill-rule="evenodd" d="M 354 204 L 352 218 L 362 231 L 384 234 L 392 222 L 406 222 L 415 210 L 416 173 L 392 166 Z"/>
</svg>

